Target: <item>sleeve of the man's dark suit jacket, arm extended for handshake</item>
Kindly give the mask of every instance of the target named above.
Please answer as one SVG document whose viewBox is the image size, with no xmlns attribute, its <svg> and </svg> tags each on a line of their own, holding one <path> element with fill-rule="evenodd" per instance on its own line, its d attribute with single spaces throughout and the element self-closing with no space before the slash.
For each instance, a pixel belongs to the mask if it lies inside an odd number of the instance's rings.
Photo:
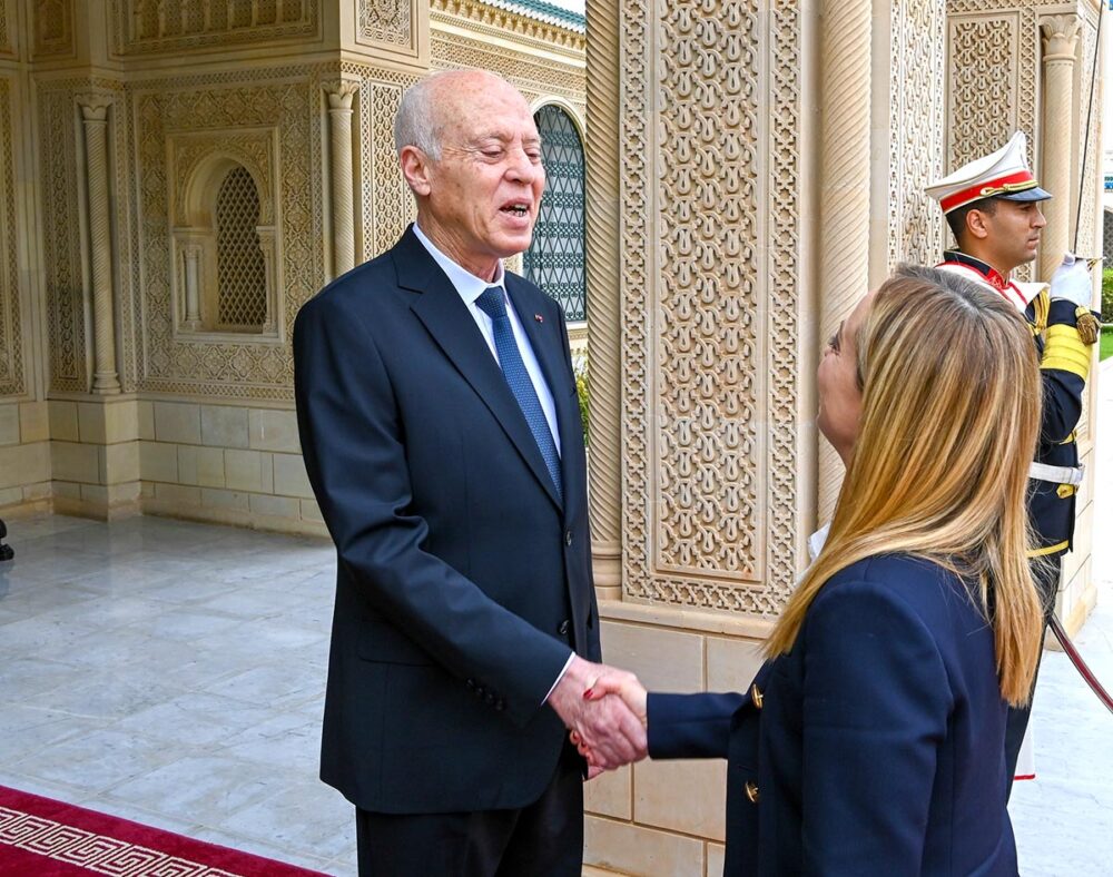
<svg viewBox="0 0 1113 877">
<path fill-rule="evenodd" d="M 294 393 L 305 467 L 338 563 L 376 610 L 461 679 L 482 680 L 525 725 L 571 650 L 425 551 L 394 390 L 359 315 L 328 294 L 294 326 Z M 466 514 L 466 510 L 461 510 Z"/>
</svg>

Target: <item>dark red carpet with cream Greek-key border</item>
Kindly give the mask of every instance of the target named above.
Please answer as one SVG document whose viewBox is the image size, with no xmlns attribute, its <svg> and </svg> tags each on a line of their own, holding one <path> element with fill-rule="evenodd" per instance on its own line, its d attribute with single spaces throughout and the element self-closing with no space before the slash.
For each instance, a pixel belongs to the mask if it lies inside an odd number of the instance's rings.
<svg viewBox="0 0 1113 877">
<path fill-rule="evenodd" d="M 273 859 L 0 786 L 0 875 L 309 877 Z"/>
</svg>

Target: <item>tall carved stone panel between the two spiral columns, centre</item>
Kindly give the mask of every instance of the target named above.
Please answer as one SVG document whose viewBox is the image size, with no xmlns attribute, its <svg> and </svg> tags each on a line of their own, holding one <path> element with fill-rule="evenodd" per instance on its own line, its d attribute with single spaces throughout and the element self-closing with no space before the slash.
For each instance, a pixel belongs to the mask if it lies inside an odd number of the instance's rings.
<svg viewBox="0 0 1113 877">
<path fill-rule="evenodd" d="M 799 18 L 622 4 L 630 598 L 774 614 L 791 588 Z"/>
</svg>

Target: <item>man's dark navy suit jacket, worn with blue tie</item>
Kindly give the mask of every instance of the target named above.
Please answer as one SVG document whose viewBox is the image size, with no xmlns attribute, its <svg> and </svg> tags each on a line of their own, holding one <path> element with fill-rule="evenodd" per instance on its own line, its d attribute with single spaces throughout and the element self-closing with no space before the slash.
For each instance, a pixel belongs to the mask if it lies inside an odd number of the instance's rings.
<svg viewBox="0 0 1113 877">
<path fill-rule="evenodd" d="M 506 292 L 555 403 L 563 505 L 412 230 L 294 326 L 302 450 L 337 551 L 321 776 L 365 810 L 536 800 L 564 742 L 545 696 L 573 649 L 600 657 L 563 314 L 514 275 Z"/>
</svg>

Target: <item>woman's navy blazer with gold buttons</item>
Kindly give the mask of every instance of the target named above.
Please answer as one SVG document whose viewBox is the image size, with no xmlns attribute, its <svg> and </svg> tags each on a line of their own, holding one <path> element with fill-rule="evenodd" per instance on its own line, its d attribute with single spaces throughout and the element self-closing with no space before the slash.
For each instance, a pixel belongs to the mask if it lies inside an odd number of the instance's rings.
<svg viewBox="0 0 1113 877">
<path fill-rule="evenodd" d="M 650 694 L 653 758 L 727 758 L 729 875 L 1015 875 L 993 631 L 964 582 L 855 563 L 746 694 Z"/>
</svg>

